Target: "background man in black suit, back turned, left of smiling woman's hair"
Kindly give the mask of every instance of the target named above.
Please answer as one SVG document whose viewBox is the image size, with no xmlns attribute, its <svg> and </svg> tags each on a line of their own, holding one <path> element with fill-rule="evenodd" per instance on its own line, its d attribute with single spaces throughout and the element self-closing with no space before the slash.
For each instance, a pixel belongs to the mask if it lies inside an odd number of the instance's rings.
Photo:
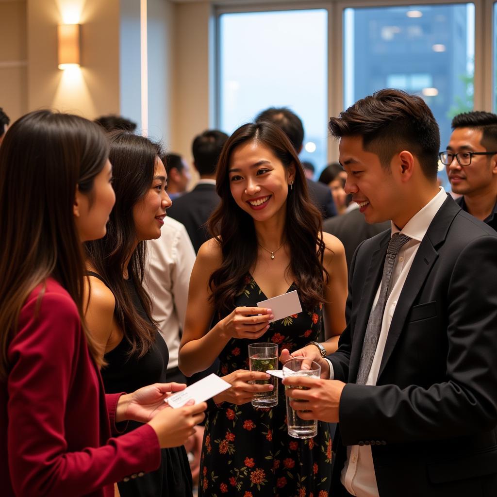
<svg viewBox="0 0 497 497">
<path fill-rule="evenodd" d="M 205 226 L 219 204 L 216 193 L 216 166 L 228 135 L 218 130 L 207 130 L 195 137 L 192 144 L 193 166 L 200 180 L 189 193 L 174 199 L 167 215 L 183 224 L 195 253 L 210 236 Z"/>
</svg>

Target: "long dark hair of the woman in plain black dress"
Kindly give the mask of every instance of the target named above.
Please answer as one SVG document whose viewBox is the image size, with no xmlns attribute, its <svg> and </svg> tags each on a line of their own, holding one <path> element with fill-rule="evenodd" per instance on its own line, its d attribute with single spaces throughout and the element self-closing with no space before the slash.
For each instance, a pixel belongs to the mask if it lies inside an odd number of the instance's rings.
<svg viewBox="0 0 497 497">
<path fill-rule="evenodd" d="M 138 357 L 142 357 L 155 341 L 157 328 L 152 319 L 152 302 L 143 287 L 145 242 L 139 242 L 133 250 L 136 243 L 133 206 L 149 191 L 157 157 L 162 151 L 159 144 L 127 131 L 114 131 L 108 138 L 116 203 L 107 223 L 105 237 L 87 242 L 84 246 L 88 261 L 114 294 L 115 317 L 131 345 L 129 355 L 138 354 Z M 126 268 L 126 261 L 132 251 Z M 140 316 L 133 305 L 123 279 L 125 269 L 128 271 L 128 278 L 133 280 L 152 324 Z"/>
</svg>

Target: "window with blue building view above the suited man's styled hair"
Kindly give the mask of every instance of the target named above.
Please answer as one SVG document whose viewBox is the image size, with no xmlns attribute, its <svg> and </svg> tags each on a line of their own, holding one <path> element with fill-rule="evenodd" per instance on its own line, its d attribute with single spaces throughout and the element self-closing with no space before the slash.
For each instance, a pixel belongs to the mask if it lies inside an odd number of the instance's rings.
<svg viewBox="0 0 497 497">
<path fill-rule="evenodd" d="M 381 88 L 419 94 L 443 149 L 452 117 L 473 109 L 474 25 L 473 3 L 346 8 L 344 106 Z"/>
</svg>

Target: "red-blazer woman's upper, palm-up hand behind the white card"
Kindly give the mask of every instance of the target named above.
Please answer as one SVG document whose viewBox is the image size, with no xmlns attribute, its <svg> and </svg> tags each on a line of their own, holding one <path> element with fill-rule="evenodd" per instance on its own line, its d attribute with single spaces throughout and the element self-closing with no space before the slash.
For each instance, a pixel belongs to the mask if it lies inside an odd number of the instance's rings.
<svg viewBox="0 0 497 497">
<path fill-rule="evenodd" d="M 184 390 L 183 383 L 155 383 L 132 394 L 121 395 L 117 403 L 116 421 L 132 419 L 146 423 L 168 406 L 164 402 L 171 393 Z"/>
</svg>

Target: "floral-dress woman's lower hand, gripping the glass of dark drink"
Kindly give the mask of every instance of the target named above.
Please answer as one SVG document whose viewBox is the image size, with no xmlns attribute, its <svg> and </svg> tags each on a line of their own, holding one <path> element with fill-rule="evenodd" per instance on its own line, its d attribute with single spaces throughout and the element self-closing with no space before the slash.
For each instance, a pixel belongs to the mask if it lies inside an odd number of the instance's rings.
<svg viewBox="0 0 497 497">
<path fill-rule="evenodd" d="M 224 381 L 231 384 L 231 388 L 221 392 L 213 397 L 216 404 L 221 402 L 229 402 L 241 406 L 252 400 L 253 394 L 258 392 L 270 392 L 273 389 L 272 385 L 257 385 L 248 383 L 249 381 L 268 380 L 270 376 L 263 371 L 247 371 L 246 369 L 238 369 L 229 375 L 222 376 Z"/>
</svg>

